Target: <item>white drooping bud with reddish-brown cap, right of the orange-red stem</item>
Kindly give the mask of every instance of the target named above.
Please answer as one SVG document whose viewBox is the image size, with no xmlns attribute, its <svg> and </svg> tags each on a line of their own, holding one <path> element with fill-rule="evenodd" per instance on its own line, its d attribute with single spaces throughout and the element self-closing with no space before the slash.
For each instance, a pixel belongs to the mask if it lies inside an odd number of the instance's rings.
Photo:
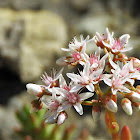
<svg viewBox="0 0 140 140">
<path fill-rule="evenodd" d="M 122 108 L 123 110 L 128 114 L 128 115 L 132 115 L 133 110 L 132 110 L 132 106 L 131 106 L 131 101 L 127 98 L 123 98 L 122 102 L 121 102 Z"/>
</svg>

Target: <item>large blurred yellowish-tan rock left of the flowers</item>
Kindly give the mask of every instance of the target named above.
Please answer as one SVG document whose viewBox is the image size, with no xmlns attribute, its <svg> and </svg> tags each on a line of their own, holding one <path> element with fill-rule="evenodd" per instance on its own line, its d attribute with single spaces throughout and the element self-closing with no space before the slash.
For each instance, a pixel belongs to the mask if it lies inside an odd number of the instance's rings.
<svg viewBox="0 0 140 140">
<path fill-rule="evenodd" d="M 49 11 L 0 9 L 0 55 L 23 82 L 50 71 L 67 41 L 67 25 Z"/>
</svg>

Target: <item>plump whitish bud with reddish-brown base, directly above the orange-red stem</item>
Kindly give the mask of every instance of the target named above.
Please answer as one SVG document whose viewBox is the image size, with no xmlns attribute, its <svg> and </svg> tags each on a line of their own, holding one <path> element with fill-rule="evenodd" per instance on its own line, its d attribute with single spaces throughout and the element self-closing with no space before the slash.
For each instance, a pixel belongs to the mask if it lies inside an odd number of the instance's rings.
<svg viewBox="0 0 140 140">
<path fill-rule="evenodd" d="M 109 111 L 111 111 L 111 112 L 117 112 L 118 111 L 117 104 L 112 99 L 110 99 L 109 97 L 106 97 L 103 102 L 104 102 L 105 108 L 108 109 Z"/>
</svg>

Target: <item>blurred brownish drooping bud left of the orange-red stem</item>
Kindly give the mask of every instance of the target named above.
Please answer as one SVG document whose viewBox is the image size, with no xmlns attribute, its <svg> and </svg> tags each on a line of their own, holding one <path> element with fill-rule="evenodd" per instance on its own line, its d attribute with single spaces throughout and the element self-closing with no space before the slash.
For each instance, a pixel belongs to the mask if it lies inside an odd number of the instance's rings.
<svg viewBox="0 0 140 140">
<path fill-rule="evenodd" d="M 100 118 L 101 107 L 99 105 L 95 105 L 92 107 L 92 117 L 96 121 Z"/>
</svg>

